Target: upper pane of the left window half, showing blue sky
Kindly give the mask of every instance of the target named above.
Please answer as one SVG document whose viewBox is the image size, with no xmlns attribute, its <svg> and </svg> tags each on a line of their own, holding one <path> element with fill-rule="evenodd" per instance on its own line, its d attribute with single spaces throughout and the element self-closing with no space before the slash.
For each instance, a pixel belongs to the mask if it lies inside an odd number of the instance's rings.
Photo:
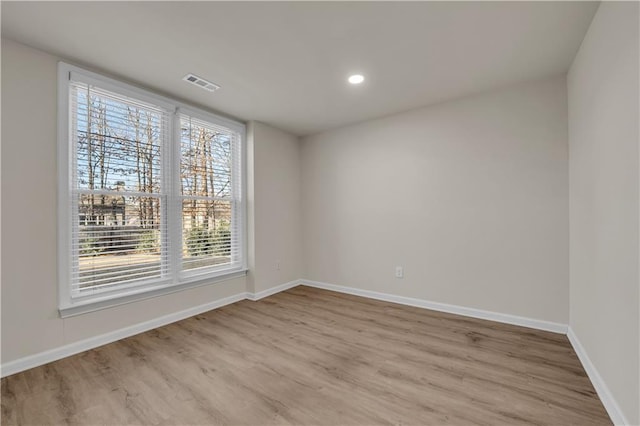
<svg viewBox="0 0 640 426">
<path fill-rule="evenodd" d="M 77 188 L 159 192 L 162 118 L 133 100 L 77 87 Z"/>
</svg>

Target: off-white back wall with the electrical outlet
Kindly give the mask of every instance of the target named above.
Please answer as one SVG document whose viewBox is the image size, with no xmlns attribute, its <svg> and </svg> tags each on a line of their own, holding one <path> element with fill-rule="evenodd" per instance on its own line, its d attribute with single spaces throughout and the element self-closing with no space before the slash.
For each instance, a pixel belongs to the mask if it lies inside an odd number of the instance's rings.
<svg viewBox="0 0 640 426">
<path fill-rule="evenodd" d="M 567 164 L 564 76 L 304 138 L 304 277 L 566 324 Z"/>
</svg>

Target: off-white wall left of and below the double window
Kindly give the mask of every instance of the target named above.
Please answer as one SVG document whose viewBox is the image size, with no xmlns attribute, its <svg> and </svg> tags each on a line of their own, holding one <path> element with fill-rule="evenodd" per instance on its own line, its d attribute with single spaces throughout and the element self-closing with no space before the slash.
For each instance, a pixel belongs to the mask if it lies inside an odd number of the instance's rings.
<svg viewBox="0 0 640 426">
<path fill-rule="evenodd" d="M 60 319 L 56 63 L 2 40 L 2 363 L 244 293 L 245 278 Z"/>
</svg>

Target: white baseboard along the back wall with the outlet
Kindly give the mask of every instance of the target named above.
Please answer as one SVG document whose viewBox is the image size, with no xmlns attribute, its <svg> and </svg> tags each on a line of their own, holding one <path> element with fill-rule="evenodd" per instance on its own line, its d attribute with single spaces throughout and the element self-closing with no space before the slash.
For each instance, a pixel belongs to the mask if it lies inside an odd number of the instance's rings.
<svg viewBox="0 0 640 426">
<path fill-rule="evenodd" d="M 362 290 L 359 288 L 345 287 L 341 285 L 328 284 L 319 281 L 301 280 L 302 285 L 322 288 L 325 290 L 337 291 L 339 293 L 353 294 L 355 296 L 368 297 L 370 299 L 383 300 L 385 302 L 399 303 L 401 305 L 415 306 L 418 308 L 431 309 L 433 311 L 447 312 L 450 314 L 463 315 L 490 321 L 497 321 L 506 324 L 519 325 L 522 327 L 535 328 L 537 330 L 551 331 L 553 333 L 566 334 L 567 325 L 557 322 L 543 321 L 534 318 L 520 317 L 516 315 L 501 314 L 498 312 L 484 311 L 481 309 L 467 308 L 464 306 L 449 305 L 446 303 L 431 302 L 412 297 L 396 296 L 388 293 L 378 293 L 376 291 Z"/>
</svg>

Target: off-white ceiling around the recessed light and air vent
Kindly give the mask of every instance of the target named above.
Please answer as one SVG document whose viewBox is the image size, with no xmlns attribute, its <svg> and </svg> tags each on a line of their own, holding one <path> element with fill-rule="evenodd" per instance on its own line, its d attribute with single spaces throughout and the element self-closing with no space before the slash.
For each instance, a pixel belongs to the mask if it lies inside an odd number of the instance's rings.
<svg viewBox="0 0 640 426">
<path fill-rule="evenodd" d="M 594 2 L 2 2 L 2 36 L 307 135 L 567 71 Z M 355 72 L 366 80 L 346 82 Z M 184 81 L 194 73 L 222 88 Z"/>
</svg>

